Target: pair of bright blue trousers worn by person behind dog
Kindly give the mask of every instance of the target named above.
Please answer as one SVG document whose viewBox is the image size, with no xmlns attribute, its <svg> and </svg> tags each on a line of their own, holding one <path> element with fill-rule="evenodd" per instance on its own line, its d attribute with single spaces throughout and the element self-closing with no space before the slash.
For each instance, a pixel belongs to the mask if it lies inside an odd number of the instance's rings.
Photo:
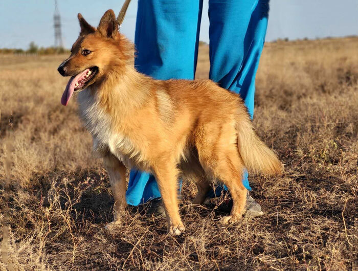
<svg viewBox="0 0 358 271">
<path fill-rule="evenodd" d="M 194 79 L 202 8 L 203 0 L 139 0 L 137 70 L 161 80 Z M 209 78 L 240 94 L 251 118 L 268 13 L 269 0 L 209 0 Z M 242 182 L 251 190 L 247 172 Z M 160 196 L 153 175 L 131 170 L 128 204 L 137 206 Z"/>
</svg>

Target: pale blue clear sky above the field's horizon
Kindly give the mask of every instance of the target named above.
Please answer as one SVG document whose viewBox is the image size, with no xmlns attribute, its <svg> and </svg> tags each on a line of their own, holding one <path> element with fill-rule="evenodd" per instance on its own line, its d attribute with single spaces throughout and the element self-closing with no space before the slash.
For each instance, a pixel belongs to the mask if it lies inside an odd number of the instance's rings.
<svg viewBox="0 0 358 271">
<path fill-rule="evenodd" d="M 107 9 L 118 14 L 123 2 L 58 0 L 64 46 L 70 48 L 78 37 L 78 12 L 97 26 Z M 31 41 L 41 47 L 53 46 L 54 11 L 54 0 L 0 0 L 0 48 L 27 49 Z M 207 11 L 208 0 L 204 0 L 200 40 L 209 42 Z M 132 0 L 121 28 L 131 40 L 134 40 L 136 14 L 137 1 Z M 271 0 L 266 41 L 347 35 L 358 35 L 358 0 Z"/>
</svg>

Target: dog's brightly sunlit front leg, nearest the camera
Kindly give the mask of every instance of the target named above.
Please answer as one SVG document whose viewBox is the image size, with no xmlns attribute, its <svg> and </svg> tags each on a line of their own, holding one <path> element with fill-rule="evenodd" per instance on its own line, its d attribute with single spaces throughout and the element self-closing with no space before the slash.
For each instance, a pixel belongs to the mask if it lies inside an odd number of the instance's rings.
<svg viewBox="0 0 358 271">
<path fill-rule="evenodd" d="M 174 159 L 161 159 L 153 169 L 167 216 L 167 233 L 181 234 L 185 231 L 185 228 L 179 214 L 177 199 L 178 169 L 176 163 Z"/>
</svg>

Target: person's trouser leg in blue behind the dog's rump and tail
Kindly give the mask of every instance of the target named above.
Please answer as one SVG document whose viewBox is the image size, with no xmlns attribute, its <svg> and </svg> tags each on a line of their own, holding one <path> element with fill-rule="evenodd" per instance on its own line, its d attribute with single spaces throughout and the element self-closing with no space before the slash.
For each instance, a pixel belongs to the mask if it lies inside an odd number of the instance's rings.
<svg viewBox="0 0 358 271">
<path fill-rule="evenodd" d="M 268 13 L 269 0 L 209 0 L 209 77 L 221 87 L 240 94 L 251 118 Z M 242 182 L 250 191 L 247 172 Z M 215 192 L 219 194 L 221 188 Z"/>
</svg>

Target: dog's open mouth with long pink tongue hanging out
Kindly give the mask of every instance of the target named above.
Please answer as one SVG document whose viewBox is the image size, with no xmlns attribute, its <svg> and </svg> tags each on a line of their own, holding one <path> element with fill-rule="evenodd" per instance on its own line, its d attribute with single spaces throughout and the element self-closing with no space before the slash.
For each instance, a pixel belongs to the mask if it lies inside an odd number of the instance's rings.
<svg viewBox="0 0 358 271">
<path fill-rule="evenodd" d="M 67 83 L 66 88 L 62 94 L 61 104 L 68 105 L 72 97 L 72 94 L 75 91 L 81 91 L 82 89 L 86 88 L 89 82 L 91 82 L 91 80 L 95 77 L 97 72 L 98 72 L 98 67 L 94 66 L 84 70 L 78 75 L 72 76 L 69 82 Z"/>
</svg>

